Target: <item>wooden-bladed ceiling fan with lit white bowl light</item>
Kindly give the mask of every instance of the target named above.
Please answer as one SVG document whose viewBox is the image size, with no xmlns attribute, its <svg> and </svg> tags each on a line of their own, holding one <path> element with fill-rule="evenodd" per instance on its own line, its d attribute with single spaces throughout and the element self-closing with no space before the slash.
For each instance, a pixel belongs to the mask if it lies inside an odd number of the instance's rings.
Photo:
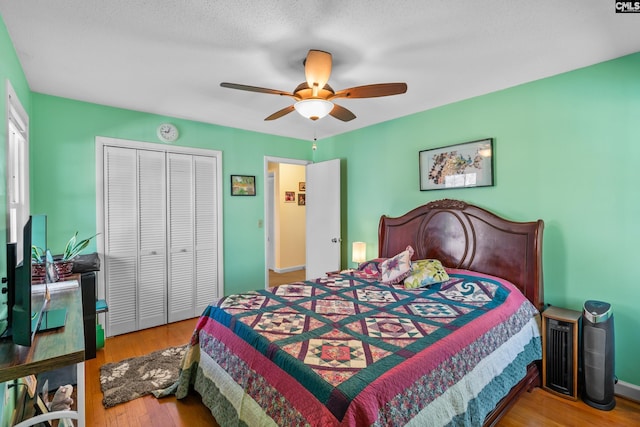
<svg viewBox="0 0 640 427">
<path fill-rule="evenodd" d="M 293 105 L 276 111 L 265 120 L 279 119 L 296 110 L 302 116 L 311 120 L 318 120 L 329 114 L 338 120 L 348 122 L 356 118 L 355 114 L 338 104 L 334 104 L 333 100 L 339 98 L 376 98 L 399 95 L 407 91 L 406 83 L 379 83 L 356 86 L 336 92 L 327 84 L 331 75 L 331 63 L 332 59 L 329 52 L 310 50 L 304 60 L 304 74 L 307 81 L 300 83 L 293 93 L 227 82 L 220 83 L 220 86 L 249 92 L 289 96 L 295 99 L 296 102 Z"/>
</svg>

